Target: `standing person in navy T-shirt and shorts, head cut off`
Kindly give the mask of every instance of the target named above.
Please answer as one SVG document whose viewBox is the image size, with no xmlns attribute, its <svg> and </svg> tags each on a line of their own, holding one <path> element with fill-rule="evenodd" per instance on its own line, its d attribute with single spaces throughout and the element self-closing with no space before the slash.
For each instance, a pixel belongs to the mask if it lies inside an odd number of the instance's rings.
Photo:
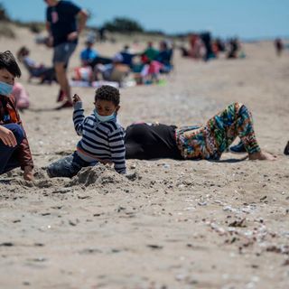
<svg viewBox="0 0 289 289">
<path fill-rule="evenodd" d="M 67 67 L 70 56 L 75 51 L 78 38 L 88 19 L 88 13 L 78 5 L 64 0 L 44 0 L 46 9 L 46 29 L 49 45 L 53 47 L 53 65 L 61 92 L 66 101 L 59 108 L 72 107 L 70 83 Z"/>
</svg>

